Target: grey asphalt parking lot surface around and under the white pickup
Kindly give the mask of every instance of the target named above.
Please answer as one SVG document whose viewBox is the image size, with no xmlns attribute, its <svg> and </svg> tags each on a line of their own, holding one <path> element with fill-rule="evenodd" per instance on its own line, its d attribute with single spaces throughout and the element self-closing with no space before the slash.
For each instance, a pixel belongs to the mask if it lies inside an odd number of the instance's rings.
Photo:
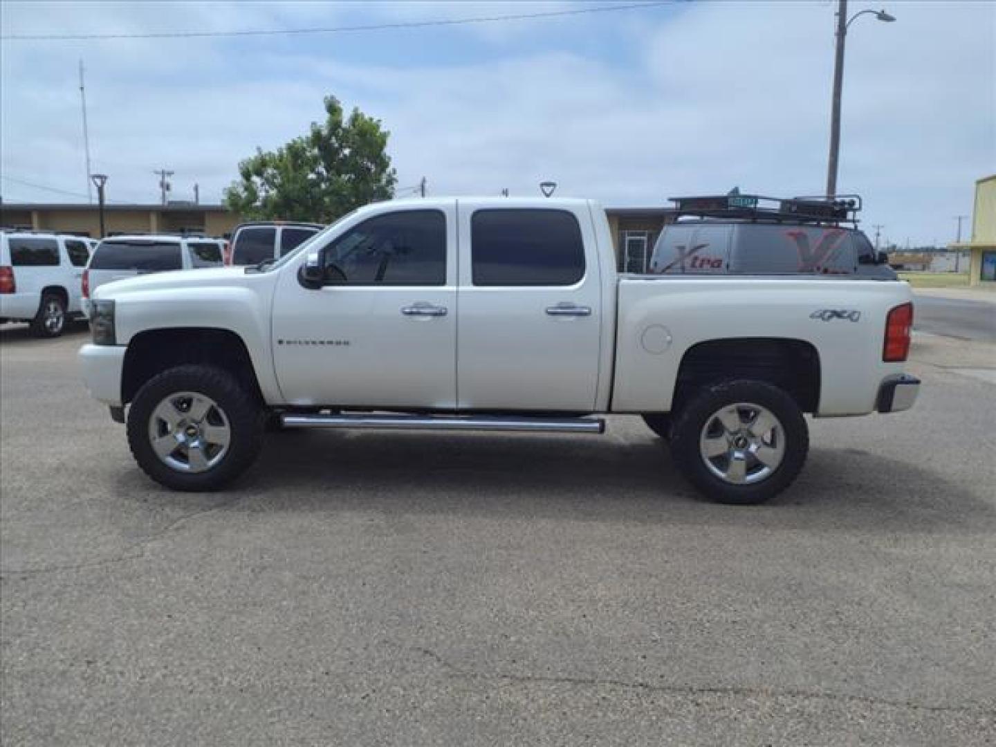
<svg viewBox="0 0 996 747">
<path fill-rule="evenodd" d="M 168 492 L 84 340 L 0 331 L 5 745 L 994 739 L 996 346 L 918 336 L 914 410 L 730 507 L 622 417 L 278 434 Z"/>
</svg>

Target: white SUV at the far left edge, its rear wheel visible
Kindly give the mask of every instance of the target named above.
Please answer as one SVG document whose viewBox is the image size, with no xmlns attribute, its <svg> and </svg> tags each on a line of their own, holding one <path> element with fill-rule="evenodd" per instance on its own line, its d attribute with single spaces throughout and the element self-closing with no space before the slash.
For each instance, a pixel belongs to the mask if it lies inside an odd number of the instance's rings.
<svg viewBox="0 0 996 747">
<path fill-rule="evenodd" d="M 0 232 L 0 322 L 29 322 L 34 335 L 62 335 L 82 314 L 86 239 L 44 231 Z"/>
</svg>

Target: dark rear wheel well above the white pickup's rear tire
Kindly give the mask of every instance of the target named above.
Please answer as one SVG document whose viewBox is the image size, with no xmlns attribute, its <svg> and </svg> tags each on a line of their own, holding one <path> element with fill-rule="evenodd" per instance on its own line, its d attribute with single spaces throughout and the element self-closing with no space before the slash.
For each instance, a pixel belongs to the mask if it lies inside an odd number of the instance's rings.
<svg viewBox="0 0 996 747">
<path fill-rule="evenodd" d="M 689 348 L 681 359 L 674 404 L 693 389 L 731 378 L 752 378 L 785 389 L 803 412 L 820 403 L 820 354 L 802 340 L 739 338 L 710 340 Z"/>
</svg>

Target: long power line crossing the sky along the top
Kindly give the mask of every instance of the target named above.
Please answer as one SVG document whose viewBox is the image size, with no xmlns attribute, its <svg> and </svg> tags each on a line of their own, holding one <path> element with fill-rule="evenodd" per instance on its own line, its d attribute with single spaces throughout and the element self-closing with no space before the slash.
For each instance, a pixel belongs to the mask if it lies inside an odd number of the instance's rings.
<svg viewBox="0 0 996 747">
<path fill-rule="evenodd" d="M 333 28 L 310 29 L 257 29 L 251 31 L 166 31 L 146 34 L 10 34 L 0 36 L 5 42 L 50 42 L 84 41 L 98 39 L 192 39 L 206 37 L 276 36 L 280 34 L 341 34 L 358 31 L 386 31 L 390 29 L 420 29 L 429 26 L 459 26 L 471 23 L 494 23 L 497 21 L 526 21 L 535 18 L 556 18 L 580 16 L 585 13 L 615 13 L 623 10 L 656 8 L 689 0 L 654 0 L 653 2 L 628 3 L 626 5 L 600 5 L 595 8 L 575 8 L 572 10 L 551 10 L 542 13 L 513 13 L 505 16 L 479 16 L 477 18 L 436 19 L 432 21 L 404 21 L 398 23 L 368 24 L 364 26 L 338 26 Z"/>
</svg>

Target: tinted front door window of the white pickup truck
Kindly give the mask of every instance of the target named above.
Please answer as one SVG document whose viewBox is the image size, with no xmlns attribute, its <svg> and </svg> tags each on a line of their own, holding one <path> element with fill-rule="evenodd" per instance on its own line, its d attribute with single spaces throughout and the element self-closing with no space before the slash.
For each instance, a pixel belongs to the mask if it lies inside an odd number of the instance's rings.
<svg viewBox="0 0 996 747">
<path fill-rule="evenodd" d="M 399 210 L 368 218 L 325 251 L 345 285 L 445 285 L 446 216 Z"/>
</svg>

